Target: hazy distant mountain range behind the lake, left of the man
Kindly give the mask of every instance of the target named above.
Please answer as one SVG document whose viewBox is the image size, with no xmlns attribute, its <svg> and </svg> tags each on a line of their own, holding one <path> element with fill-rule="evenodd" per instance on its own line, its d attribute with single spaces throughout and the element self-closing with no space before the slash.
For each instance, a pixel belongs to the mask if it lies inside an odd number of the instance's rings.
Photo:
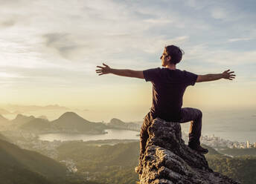
<svg viewBox="0 0 256 184">
<path fill-rule="evenodd" d="M 0 115 L 0 125 L 8 127 L 9 130 L 30 131 L 35 134 L 44 133 L 84 133 L 84 134 L 104 134 L 108 128 L 126 129 L 139 131 L 140 125 L 133 122 L 122 122 L 113 118 L 109 123 L 90 122 L 74 112 L 66 112 L 58 119 L 49 121 L 45 116 L 36 118 L 35 116 L 24 116 L 18 114 L 15 119 L 8 120 Z"/>
</svg>

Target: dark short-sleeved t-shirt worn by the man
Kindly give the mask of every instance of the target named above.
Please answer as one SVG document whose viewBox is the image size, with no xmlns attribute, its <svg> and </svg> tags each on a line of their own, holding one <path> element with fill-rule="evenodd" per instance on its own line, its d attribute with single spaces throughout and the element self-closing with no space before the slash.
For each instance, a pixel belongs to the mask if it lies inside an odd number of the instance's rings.
<svg viewBox="0 0 256 184">
<path fill-rule="evenodd" d="M 144 78 L 153 84 L 153 102 L 150 111 L 153 118 L 179 122 L 182 98 L 188 85 L 194 85 L 195 73 L 186 70 L 153 68 L 143 70 Z"/>
</svg>

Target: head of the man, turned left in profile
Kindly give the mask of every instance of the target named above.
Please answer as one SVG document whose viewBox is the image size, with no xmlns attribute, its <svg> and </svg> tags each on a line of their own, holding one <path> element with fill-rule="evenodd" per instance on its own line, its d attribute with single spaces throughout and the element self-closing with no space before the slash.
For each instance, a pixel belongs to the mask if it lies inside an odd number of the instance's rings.
<svg viewBox="0 0 256 184">
<path fill-rule="evenodd" d="M 168 63 L 176 65 L 182 60 L 183 50 L 175 45 L 168 45 L 164 47 L 164 52 L 162 53 L 161 65 L 165 67 Z"/>
</svg>

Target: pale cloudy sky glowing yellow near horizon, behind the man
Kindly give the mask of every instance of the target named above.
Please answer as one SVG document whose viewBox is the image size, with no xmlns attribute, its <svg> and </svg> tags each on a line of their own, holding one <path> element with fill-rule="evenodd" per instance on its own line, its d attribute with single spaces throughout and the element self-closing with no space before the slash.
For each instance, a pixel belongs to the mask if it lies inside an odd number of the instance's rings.
<svg viewBox="0 0 256 184">
<path fill-rule="evenodd" d="M 63 105 L 89 119 L 141 120 L 152 85 L 97 76 L 96 65 L 161 67 L 166 45 L 185 51 L 180 70 L 234 70 L 233 81 L 196 83 L 184 107 L 256 107 L 255 1 L 0 0 L 0 107 Z"/>
</svg>

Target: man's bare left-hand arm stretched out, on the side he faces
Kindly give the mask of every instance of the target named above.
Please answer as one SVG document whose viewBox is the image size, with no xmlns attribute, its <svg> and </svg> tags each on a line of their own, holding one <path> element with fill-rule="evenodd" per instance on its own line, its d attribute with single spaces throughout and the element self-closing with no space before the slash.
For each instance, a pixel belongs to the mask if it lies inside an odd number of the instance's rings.
<svg viewBox="0 0 256 184">
<path fill-rule="evenodd" d="M 96 73 L 99 74 L 99 76 L 103 74 L 112 73 L 118 76 L 128 76 L 128 77 L 135 77 L 139 79 L 144 79 L 143 71 L 142 70 L 127 70 L 127 69 L 114 69 L 110 68 L 108 65 L 103 63 L 104 67 L 97 66 Z"/>
</svg>

